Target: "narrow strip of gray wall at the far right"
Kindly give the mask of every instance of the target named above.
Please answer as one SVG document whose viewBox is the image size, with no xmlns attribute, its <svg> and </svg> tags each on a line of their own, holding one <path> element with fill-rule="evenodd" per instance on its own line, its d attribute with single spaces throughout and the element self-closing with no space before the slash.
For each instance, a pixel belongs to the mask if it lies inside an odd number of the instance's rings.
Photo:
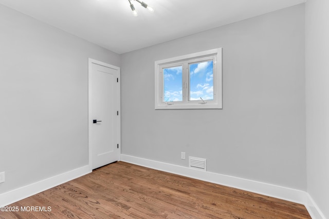
<svg viewBox="0 0 329 219">
<path fill-rule="evenodd" d="M 329 1 L 306 2 L 307 192 L 329 218 Z"/>
</svg>

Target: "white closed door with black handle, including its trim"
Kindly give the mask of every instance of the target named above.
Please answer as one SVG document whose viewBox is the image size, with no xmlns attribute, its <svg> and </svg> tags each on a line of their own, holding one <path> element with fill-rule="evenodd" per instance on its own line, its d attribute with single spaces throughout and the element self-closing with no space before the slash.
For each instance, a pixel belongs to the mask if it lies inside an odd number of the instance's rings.
<svg viewBox="0 0 329 219">
<path fill-rule="evenodd" d="M 120 160 L 120 68 L 89 58 L 89 166 Z"/>
</svg>

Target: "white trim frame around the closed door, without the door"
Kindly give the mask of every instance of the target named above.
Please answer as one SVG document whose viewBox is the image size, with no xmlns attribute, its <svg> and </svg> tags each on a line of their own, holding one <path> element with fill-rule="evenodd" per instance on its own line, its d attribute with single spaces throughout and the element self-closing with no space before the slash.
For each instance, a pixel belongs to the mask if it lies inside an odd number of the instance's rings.
<svg viewBox="0 0 329 219">
<path fill-rule="evenodd" d="M 115 98 L 115 104 L 117 106 L 117 111 L 118 111 L 118 116 L 117 116 L 117 121 L 116 124 L 118 132 L 117 132 L 117 140 L 118 140 L 118 161 L 120 161 L 121 157 L 121 83 L 120 83 L 120 67 L 110 65 L 101 61 L 98 61 L 96 59 L 88 58 L 88 150 L 89 150 L 89 170 L 93 170 L 93 148 L 92 145 L 90 144 L 90 128 L 92 127 L 92 123 L 90 121 L 93 120 L 92 115 L 91 115 L 91 106 L 90 106 L 90 99 L 92 98 L 92 91 L 90 89 L 90 85 L 92 84 L 92 70 L 93 70 L 93 64 L 96 65 L 101 65 L 107 68 L 112 68 L 118 71 L 118 86 L 116 86 L 116 93 L 117 93 L 117 98 Z"/>
</svg>

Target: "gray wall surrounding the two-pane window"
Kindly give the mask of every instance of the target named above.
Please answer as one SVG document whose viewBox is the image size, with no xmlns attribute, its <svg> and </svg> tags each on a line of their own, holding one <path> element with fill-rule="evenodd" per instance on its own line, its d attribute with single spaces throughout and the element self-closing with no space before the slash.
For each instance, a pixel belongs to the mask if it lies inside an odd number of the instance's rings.
<svg viewBox="0 0 329 219">
<path fill-rule="evenodd" d="M 223 48 L 223 110 L 154 110 L 154 61 Z M 121 56 L 122 154 L 306 190 L 304 5 Z"/>
</svg>

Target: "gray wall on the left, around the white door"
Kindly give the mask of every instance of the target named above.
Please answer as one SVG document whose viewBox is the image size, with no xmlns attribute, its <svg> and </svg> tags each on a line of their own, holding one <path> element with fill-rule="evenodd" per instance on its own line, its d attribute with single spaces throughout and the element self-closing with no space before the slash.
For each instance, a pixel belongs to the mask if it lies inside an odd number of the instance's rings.
<svg viewBox="0 0 329 219">
<path fill-rule="evenodd" d="M 0 5 L 0 193 L 88 165 L 88 57 L 120 56 Z"/>
</svg>

